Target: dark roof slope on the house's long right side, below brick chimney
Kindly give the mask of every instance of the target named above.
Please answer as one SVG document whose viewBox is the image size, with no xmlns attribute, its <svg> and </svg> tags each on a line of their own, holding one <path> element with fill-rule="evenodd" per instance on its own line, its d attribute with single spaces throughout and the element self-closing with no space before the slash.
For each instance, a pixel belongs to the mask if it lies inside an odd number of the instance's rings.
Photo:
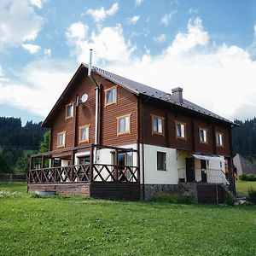
<svg viewBox="0 0 256 256">
<path fill-rule="evenodd" d="M 83 65 L 84 65 L 84 67 L 88 68 L 87 64 L 83 63 Z M 92 67 L 91 70 L 92 70 L 92 73 L 97 73 L 97 74 L 101 75 L 103 78 L 108 79 L 115 84 L 119 84 L 128 90 L 131 90 L 133 93 L 135 93 L 137 95 L 151 96 L 151 97 L 161 100 L 163 102 L 170 102 L 179 107 L 187 108 L 187 109 L 195 111 L 197 113 L 201 113 L 203 115 L 210 116 L 214 119 L 222 120 L 224 122 L 230 123 L 231 125 L 236 125 L 234 122 L 230 121 L 229 119 L 224 119 L 220 115 L 218 115 L 216 113 L 212 113 L 211 111 L 209 111 L 205 108 L 201 108 L 200 106 L 196 105 L 195 103 L 189 102 L 185 99 L 183 99 L 183 102 L 177 102 L 172 98 L 172 94 L 166 93 L 165 91 L 155 89 L 146 84 L 141 84 L 141 83 L 138 83 L 131 79 L 125 79 L 124 77 L 121 77 L 115 73 L 108 72 L 99 67 Z"/>
</svg>

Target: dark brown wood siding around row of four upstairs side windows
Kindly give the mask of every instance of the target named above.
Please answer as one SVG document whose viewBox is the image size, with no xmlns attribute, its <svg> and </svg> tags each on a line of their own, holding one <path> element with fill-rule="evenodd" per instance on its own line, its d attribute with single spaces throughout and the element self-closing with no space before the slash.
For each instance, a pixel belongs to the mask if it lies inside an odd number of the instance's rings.
<svg viewBox="0 0 256 256">
<path fill-rule="evenodd" d="M 151 114 L 165 118 L 165 137 L 152 134 Z M 186 139 L 176 137 L 176 121 L 186 124 Z M 183 109 L 172 108 L 159 102 L 143 104 L 144 143 L 161 147 L 178 148 L 201 154 L 230 156 L 229 125 Z M 200 143 L 199 128 L 207 130 L 207 143 Z M 215 132 L 224 134 L 224 147 L 216 146 Z"/>
</svg>

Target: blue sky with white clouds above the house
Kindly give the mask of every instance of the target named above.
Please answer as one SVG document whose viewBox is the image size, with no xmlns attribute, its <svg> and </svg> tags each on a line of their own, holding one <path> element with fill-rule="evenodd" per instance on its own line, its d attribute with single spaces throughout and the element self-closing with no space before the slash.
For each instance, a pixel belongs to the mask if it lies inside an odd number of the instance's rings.
<svg viewBox="0 0 256 256">
<path fill-rule="evenodd" d="M 81 62 L 256 116 L 254 0 L 1 0 L 0 116 L 42 121 Z"/>
</svg>

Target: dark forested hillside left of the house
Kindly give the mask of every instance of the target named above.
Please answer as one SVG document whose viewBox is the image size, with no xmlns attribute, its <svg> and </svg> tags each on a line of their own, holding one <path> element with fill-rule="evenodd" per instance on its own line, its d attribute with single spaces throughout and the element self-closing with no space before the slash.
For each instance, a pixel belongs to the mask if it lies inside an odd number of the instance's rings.
<svg viewBox="0 0 256 256">
<path fill-rule="evenodd" d="M 0 117 L 0 173 L 25 172 L 29 154 L 38 151 L 44 137 L 41 124 L 22 126 L 20 119 Z"/>
</svg>

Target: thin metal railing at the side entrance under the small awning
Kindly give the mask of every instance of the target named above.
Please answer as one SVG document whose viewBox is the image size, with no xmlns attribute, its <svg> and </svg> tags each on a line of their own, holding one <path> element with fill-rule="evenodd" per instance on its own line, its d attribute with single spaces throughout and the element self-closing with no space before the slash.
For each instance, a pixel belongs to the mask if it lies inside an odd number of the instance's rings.
<svg viewBox="0 0 256 256">
<path fill-rule="evenodd" d="M 188 173 L 190 172 L 190 173 Z M 195 173 L 191 175 L 191 172 Z M 179 182 L 206 182 L 206 183 L 223 183 L 228 184 L 229 181 L 222 170 L 218 169 L 201 169 L 201 168 L 178 168 L 178 180 Z"/>
</svg>

